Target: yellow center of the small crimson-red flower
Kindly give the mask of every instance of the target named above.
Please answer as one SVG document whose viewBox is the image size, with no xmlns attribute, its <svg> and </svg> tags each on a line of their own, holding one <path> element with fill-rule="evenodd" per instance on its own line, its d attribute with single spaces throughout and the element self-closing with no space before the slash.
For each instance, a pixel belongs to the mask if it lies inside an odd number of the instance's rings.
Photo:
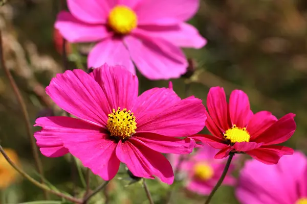
<svg viewBox="0 0 307 204">
<path fill-rule="evenodd" d="M 235 142 L 249 142 L 250 135 L 246 131 L 246 128 L 240 128 L 237 127 L 235 124 L 231 127 L 231 129 L 228 129 L 225 134 L 224 138 L 227 140 L 230 140 L 231 143 Z"/>
</svg>

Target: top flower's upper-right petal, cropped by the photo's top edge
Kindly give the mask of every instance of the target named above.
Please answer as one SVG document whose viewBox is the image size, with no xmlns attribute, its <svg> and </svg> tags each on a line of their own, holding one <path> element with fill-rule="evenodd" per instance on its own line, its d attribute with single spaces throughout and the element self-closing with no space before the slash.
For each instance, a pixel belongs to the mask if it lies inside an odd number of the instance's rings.
<svg viewBox="0 0 307 204">
<path fill-rule="evenodd" d="M 140 24 L 155 22 L 159 18 L 190 19 L 199 9 L 198 0 L 143 0 L 135 11 Z"/>
</svg>

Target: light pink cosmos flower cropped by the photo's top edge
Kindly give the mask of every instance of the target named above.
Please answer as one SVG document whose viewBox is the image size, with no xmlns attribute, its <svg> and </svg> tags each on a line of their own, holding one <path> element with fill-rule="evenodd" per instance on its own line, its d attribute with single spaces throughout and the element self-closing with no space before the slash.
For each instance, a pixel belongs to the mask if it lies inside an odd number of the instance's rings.
<svg viewBox="0 0 307 204">
<path fill-rule="evenodd" d="M 199 8 L 199 0 L 67 0 L 69 12 L 55 22 L 70 42 L 98 42 L 89 67 L 133 62 L 148 79 L 179 78 L 187 60 L 179 47 L 201 48 L 206 40 L 184 21 Z"/>
</svg>

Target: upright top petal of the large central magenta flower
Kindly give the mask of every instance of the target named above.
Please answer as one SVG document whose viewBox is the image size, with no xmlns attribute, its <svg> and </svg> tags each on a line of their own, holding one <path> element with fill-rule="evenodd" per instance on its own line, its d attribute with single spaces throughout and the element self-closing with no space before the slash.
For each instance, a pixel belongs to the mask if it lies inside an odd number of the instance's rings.
<svg viewBox="0 0 307 204">
<path fill-rule="evenodd" d="M 100 84 L 110 111 L 118 107 L 132 110 L 139 92 L 139 81 L 136 75 L 123 66 L 104 64 L 93 71 L 93 77 Z"/>
</svg>

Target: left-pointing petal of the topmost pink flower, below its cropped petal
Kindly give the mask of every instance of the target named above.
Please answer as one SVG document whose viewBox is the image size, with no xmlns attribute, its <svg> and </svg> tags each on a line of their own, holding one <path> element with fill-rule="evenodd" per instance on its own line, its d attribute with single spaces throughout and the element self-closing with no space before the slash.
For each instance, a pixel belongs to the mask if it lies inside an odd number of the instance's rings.
<svg viewBox="0 0 307 204">
<path fill-rule="evenodd" d="M 67 11 L 58 14 L 54 27 L 69 42 L 95 42 L 112 35 L 105 25 L 84 23 Z"/>
</svg>

